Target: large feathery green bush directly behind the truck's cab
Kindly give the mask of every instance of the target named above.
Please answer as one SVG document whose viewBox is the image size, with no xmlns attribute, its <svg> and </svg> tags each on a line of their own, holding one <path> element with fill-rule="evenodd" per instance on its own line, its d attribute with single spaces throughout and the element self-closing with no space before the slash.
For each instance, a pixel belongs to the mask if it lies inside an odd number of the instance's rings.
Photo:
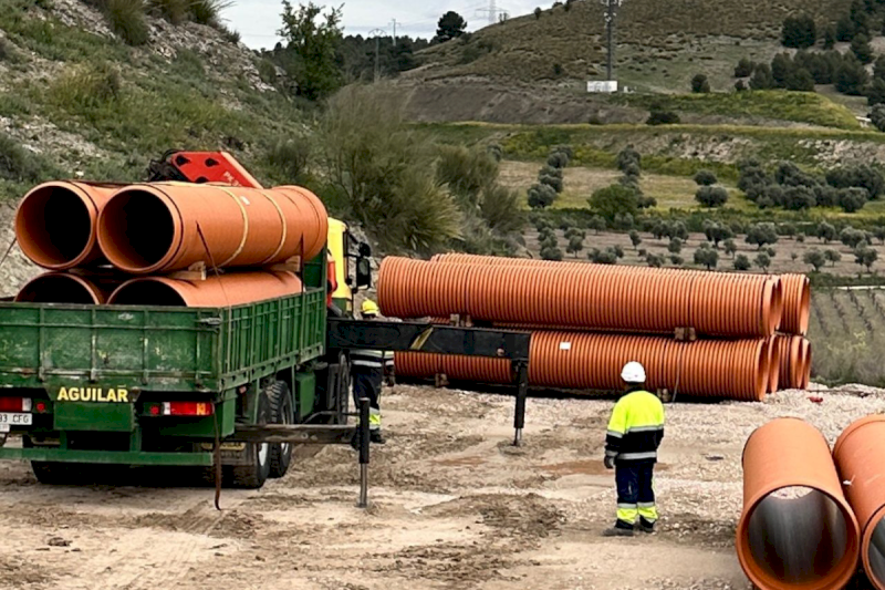
<svg viewBox="0 0 885 590">
<path fill-rule="evenodd" d="M 402 95 L 388 86 L 348 86 L 320 121 L 323 173 L 348 215 L 382 249 L 433 253 L 461 239 L 465 218 L 433 170 L 431 139 L 413 133 Z"/>
</svg>

